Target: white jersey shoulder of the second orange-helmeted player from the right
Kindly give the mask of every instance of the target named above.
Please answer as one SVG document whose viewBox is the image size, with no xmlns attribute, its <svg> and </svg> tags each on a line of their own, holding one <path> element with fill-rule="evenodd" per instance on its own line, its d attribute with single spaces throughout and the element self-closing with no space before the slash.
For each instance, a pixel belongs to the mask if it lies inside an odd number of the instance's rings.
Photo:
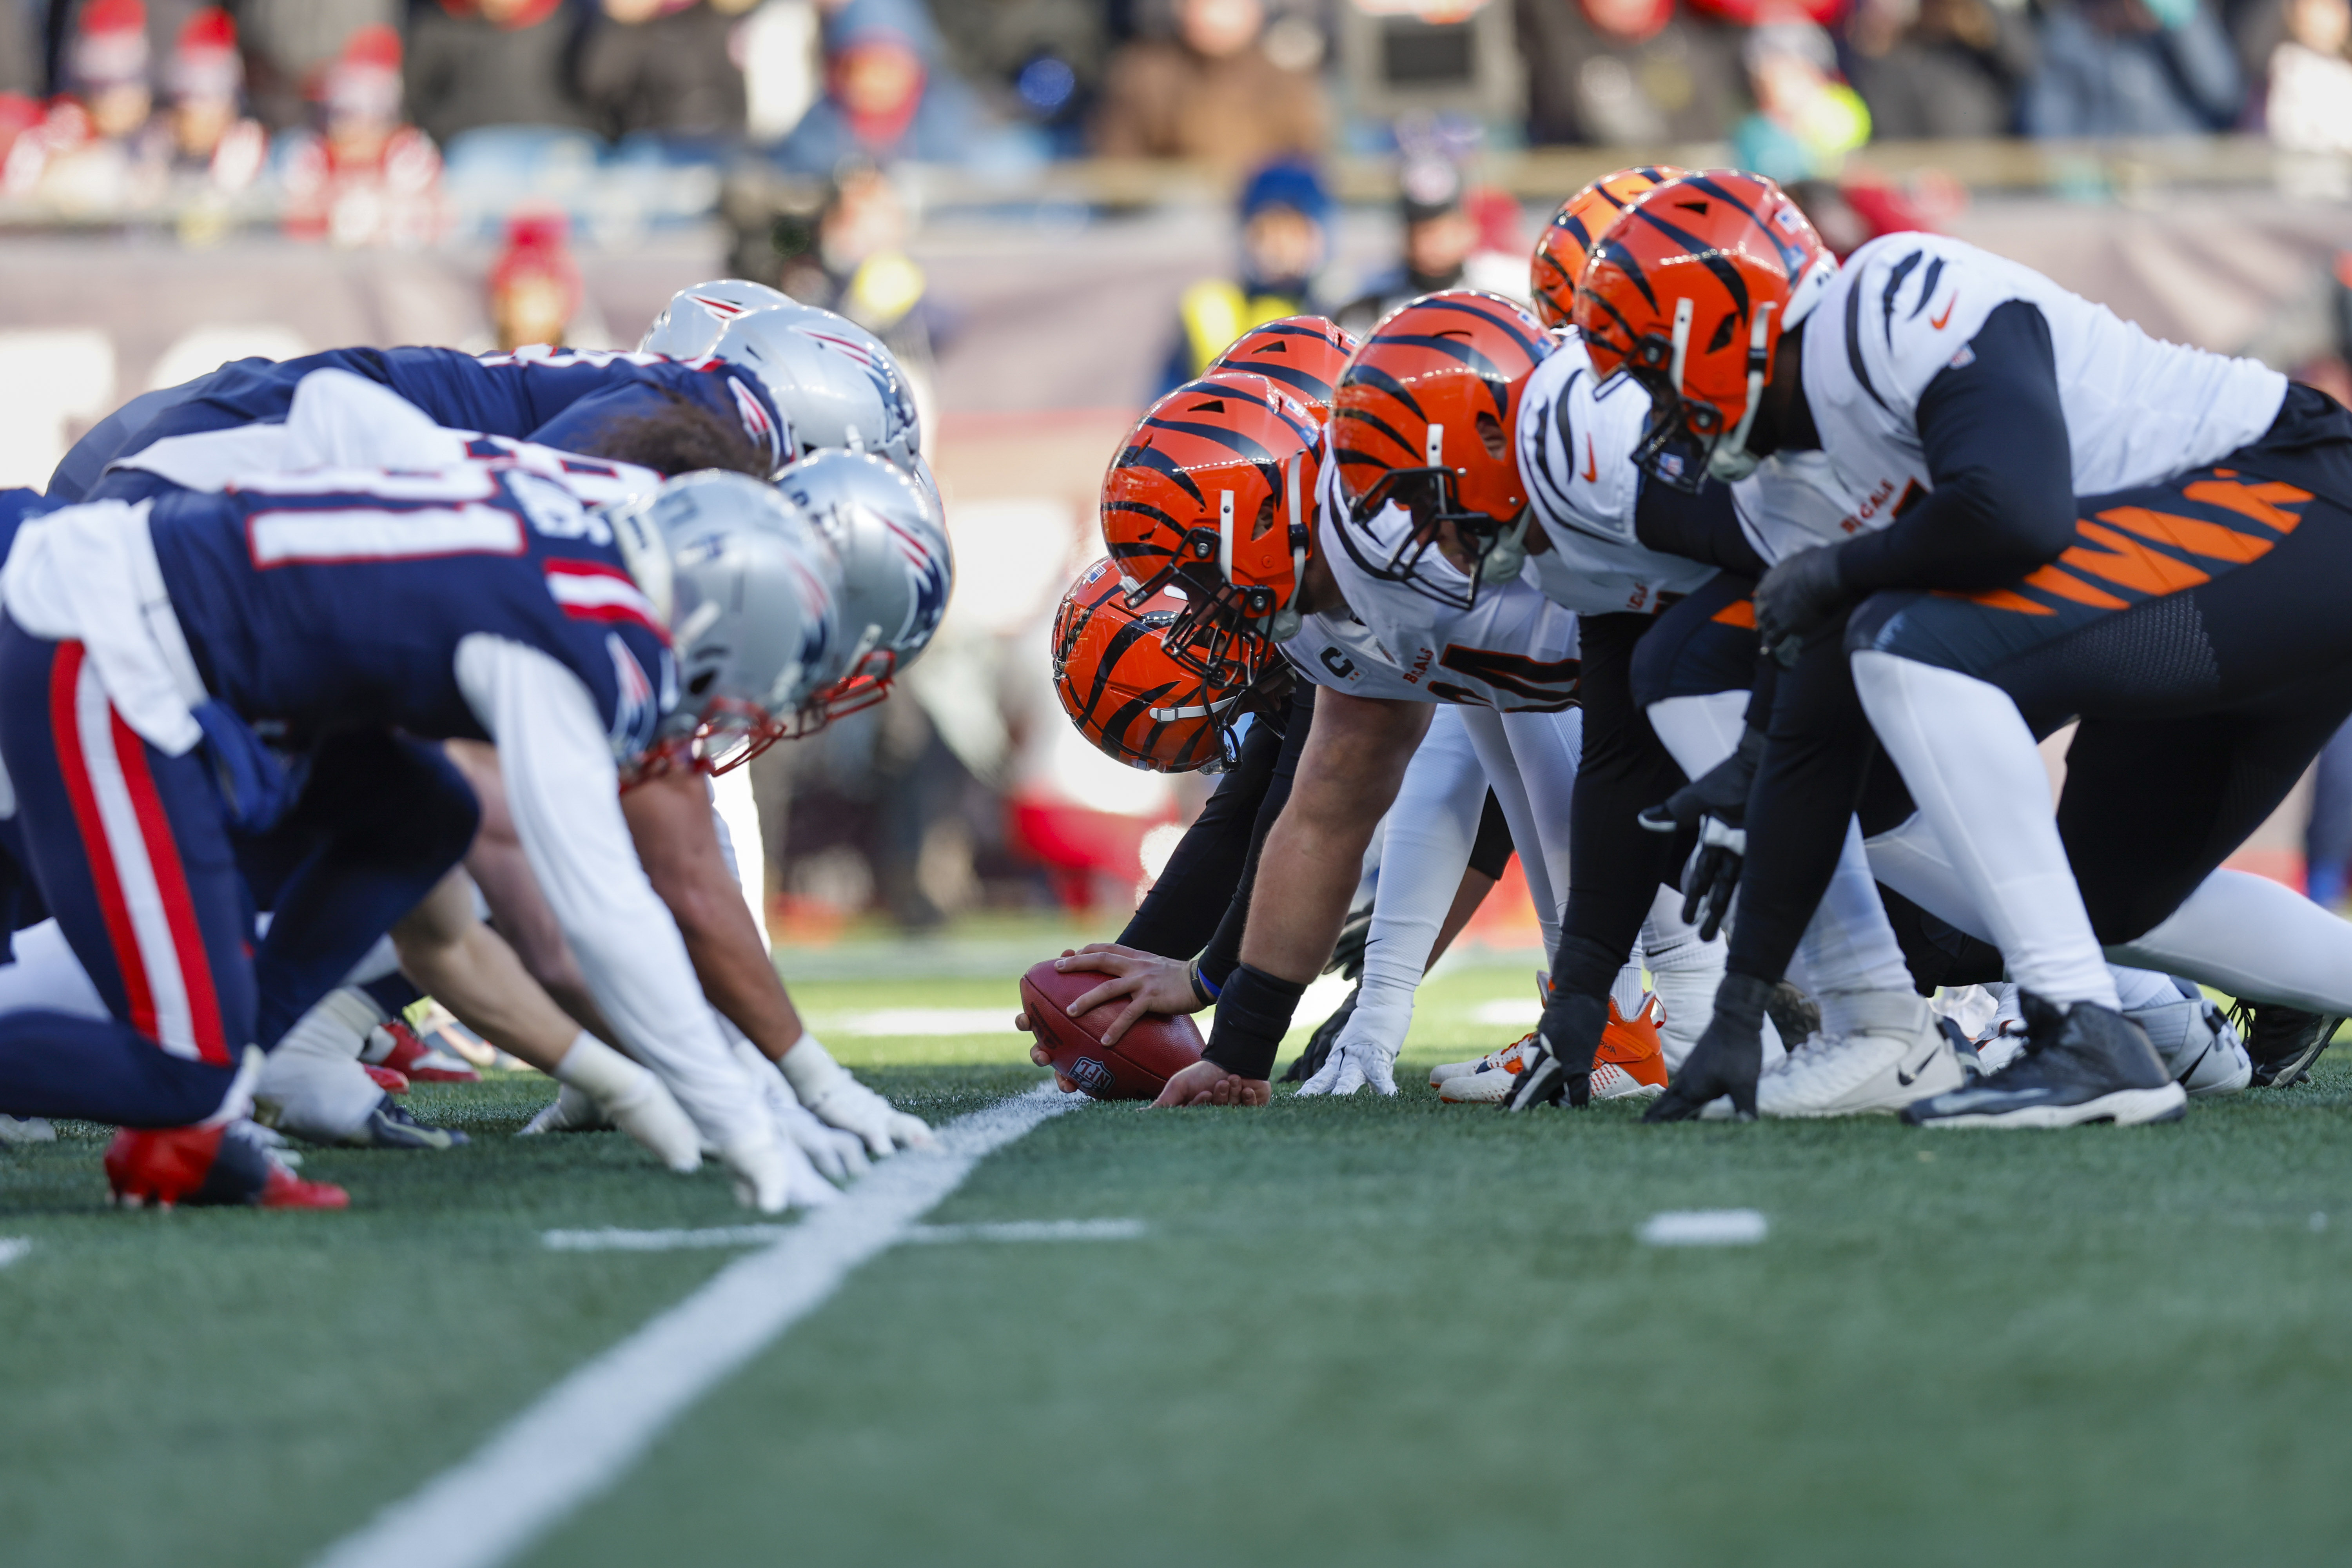
<svg viewBox="0 0 2352 1568">
<path fill-rule="evenodd" d="M 1632 376 L 1597 378 L 1573 327 L 1557 341 L 1519 397 L 1519 473 L 1552 545 L 1526 557 L 1524 581 L 1588 616 L 1658 609 L 1658 595 L 1691 592 L 1715 567 L 1635 538 L 1642 473 L 1632 454 L 1649 393 Z"/>
</svg>

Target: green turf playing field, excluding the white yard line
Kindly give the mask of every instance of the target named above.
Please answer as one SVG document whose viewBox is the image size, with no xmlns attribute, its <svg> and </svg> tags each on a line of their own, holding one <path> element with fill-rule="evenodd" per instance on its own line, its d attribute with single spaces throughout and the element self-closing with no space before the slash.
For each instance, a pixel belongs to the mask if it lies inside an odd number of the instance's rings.
<svg viewBox="0 0 2352 1568">
<path fill-rule="evenodd" d="M 1009 1034 L 870 1039 L 988 980 L 797 987 L 934 1121 Z M 1432 980 L 1406 1065 L 1498 1044 L 1522 969 Z M 2216 1563 L 2352 1556 L 2352 1070 L 2169 1128 L 1642 1128 L 1392 1103 L 1091 1105 L 901 1246 L 522 1561 Z M 0 1563 L 301 1563 L 459 1465 L 731 1253 L 713 1171 L 513 1140 L 543 1079 L 419 1091 L 477 1143 L 310 1154 L 346 1215 L 103 1208 L 96 1128 L 0 1150 Z M 1658 1251 L 1668 1208 L 1752 1248 Z"/>
</svg>

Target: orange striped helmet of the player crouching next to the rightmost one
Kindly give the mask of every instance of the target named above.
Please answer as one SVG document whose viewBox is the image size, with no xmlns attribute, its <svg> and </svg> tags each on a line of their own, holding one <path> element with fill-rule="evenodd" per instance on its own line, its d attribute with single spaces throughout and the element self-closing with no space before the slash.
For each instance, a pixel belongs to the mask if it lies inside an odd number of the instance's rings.
<svg viewBox="0 0 2352 1568">
<path fill-rule="evenodd" d="M 1446 289 L 1397 306 L 1348 362 L 1331 409 L 1331 461 L 1348 501 L 1341 538 L 1376 578 L 1468 609 L 1477 585 L 1526 562 L 1517 418 L 1526 378 L 1552 353 L 1526 306 Z M 1383 536 L 1381 512 L 1411 515 Z M 1451 527 L 1454 538 L 1442 538 Z M 1468 588 L 1421 571 L 1432 545 L 1468 555 Z M 1385 559 L 1378 559 L 1383 557 Z"/>
</svg>

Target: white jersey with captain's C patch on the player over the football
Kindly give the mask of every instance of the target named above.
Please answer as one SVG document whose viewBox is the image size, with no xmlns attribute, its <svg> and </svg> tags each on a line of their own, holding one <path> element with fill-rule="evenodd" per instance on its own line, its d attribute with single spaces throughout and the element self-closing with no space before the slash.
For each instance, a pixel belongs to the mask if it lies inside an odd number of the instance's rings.
<svg viewBox="0 0 2352 1568">
<path fill-rule="evenodd" d="M 1470 703 L 1512 712 L 1557 710 L 1576 701 L 1576 616 L 1543 597 L 1524 576 L 1479 588 L 1477 604 L 1451 609 L 1428 595 L 1364 571 L 1350 543 L 1388 559 L 1409 529 L 1402 508 L 1388 508 L 1341 529 L 1345 501 L 1338 465 L 1324 465 L 1317 491 L 1315 545 L 1331 562 L 1348 611 L 1308 616 L 1282 654 L 1317 686 L 1406 703 Z M 1421 571 L 1454 588 L 1468 578 L 1430 550 Z"/>
</svg>

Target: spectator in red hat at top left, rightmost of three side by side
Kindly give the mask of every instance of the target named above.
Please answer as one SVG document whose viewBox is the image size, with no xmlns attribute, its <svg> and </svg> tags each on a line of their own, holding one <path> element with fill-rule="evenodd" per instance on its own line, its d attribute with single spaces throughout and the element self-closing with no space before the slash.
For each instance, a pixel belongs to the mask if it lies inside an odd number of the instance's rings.
<svg viewBox="0 0 2352 1568">
<path fill-rule="evenodd" d="M 282 155 L 299 240 L 423 244 L 440 235 L 440 153 L 400 120 L 400 33 L 365 26 L 318 82 L 322 127 Z"/>
</svg>

